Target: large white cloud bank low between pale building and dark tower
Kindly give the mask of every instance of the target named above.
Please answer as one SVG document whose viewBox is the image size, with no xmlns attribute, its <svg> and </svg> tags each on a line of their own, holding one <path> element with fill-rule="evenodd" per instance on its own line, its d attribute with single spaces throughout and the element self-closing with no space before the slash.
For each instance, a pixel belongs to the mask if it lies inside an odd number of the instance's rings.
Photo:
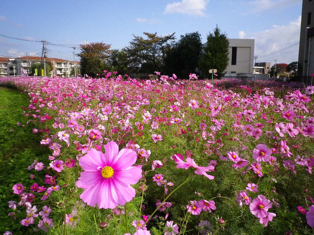
<svg viewBox="0 0 314 235">
<path fill-rule="evenodd" d="M 271 29 L 250 34 L 255 39 L 254 55 L 268 55 L 300 41 L 301 16 L 287 25 L 273 25 Z M 298 60 L 299 45 L 282 52 L 260 58 L 260 62 L 287 63 Z"/>
</svg>

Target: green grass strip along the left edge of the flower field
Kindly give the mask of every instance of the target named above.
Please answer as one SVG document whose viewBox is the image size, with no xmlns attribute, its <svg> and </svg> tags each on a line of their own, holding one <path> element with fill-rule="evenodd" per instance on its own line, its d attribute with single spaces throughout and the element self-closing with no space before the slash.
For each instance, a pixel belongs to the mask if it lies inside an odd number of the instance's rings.
<svg viewBox="0 0 314 235">
<path fill-rule="evenodd" d="M 8 201 L 19 201 L 19 196 L 14 195 L 12 186 L 16 183 L 29 185 L 32 180 L 26 169 L 34 159 L 47 159 L 49 151 L 39 143 L 40 135 L 34 135 L 32 123 L 25 127 L 16 123 L 28 119 L 22 115 L 21 107 L 29 105 L 28 96 L 20 91 L 0 87 L 0 234 L 9 230 L 14 234 L 33 234 L 33 231 L 20 225 L 25 213 L 16 213 L 17 220 L 8 217 L 12 209 Z M 13 131 L 10 131 L 10 129 Z M 27 183 L 28 182 L 28 183 Z M 18 232 L 18 233 L 16 233 Z"/>
</svg>

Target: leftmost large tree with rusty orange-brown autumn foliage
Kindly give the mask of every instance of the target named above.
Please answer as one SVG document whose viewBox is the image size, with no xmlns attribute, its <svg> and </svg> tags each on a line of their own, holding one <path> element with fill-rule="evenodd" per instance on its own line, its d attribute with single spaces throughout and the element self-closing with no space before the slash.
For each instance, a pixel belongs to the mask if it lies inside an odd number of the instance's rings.
<svg viewBox="0 0 314 235">
<path fill-rule="evenodd" d="M 111 45 L 103 42 L 81 44 L 81 52 L 78 56 L 81 59 L 81 73 L 91 77 L 102 74 L 108 69 L 107 59 L 111 54 Z"/>
</svg>

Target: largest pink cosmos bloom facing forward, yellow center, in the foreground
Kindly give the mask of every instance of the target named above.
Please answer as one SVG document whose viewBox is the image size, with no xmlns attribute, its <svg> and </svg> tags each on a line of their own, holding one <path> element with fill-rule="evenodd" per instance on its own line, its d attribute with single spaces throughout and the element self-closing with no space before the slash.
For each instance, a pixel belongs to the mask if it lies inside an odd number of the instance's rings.
<svg viewBox="0 0 314 235">
<path fill-rule="evenodd" d="M 96 149 L 90 149 L 79 159 L 83 168 L 81 176 L 76 181 L 78 188 L 84 192 L 80 198 L 89 206 L 98 208 L 116 208 L 124 205 L 135 196 L 131 185 L 136 184 L 142 177 L 142 165 L 132 166 L 136 159 L 136 152 L 132 149 L 121 149 L 116 142 L 108 142 L 103 154 Z"/>
</svg>

